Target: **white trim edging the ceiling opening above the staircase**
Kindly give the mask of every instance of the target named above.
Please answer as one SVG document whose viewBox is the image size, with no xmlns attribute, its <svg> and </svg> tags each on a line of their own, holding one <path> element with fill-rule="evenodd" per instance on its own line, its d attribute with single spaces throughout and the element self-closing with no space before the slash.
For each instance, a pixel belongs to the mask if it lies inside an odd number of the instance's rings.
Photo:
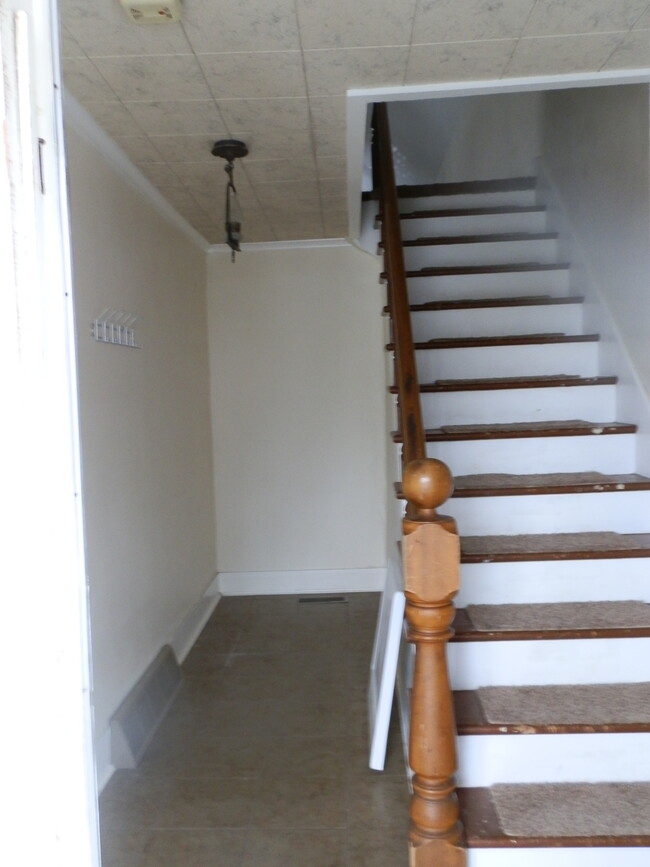
<svg viewBox="0 0 650 867">
<path fill-rule="evenodd" d="M 444 81 L 409 84 L 402 87 L 365 87 L 347 91 L 347 164 L 349 237 L 357 244 L 361 235 L 361 189 L 368 106 L 373 102 L 438 99 L 449 96 L 482 96 L 490 93 L 520 93 L 535 90 L 562 90 L 569 87 L 605 87 L 609 84 L 650 82 L 650 69 L 615 69 L 604 72 L 577 72 L 562 75 L 534 75 L 479 81 Z"/>
</svg>

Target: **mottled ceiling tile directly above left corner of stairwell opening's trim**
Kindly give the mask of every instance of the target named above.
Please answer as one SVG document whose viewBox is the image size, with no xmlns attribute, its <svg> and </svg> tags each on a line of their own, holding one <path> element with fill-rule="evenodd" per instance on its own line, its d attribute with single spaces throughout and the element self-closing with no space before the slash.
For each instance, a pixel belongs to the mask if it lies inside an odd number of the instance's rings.
<svg viewBox="0 0 650 867">
<path fill-rule="evenodd" d="M 339 48 L 304 55 L 309 95 L 328 96 L 353 87 L 402 84 L 408 48 Z"/>
</svg>

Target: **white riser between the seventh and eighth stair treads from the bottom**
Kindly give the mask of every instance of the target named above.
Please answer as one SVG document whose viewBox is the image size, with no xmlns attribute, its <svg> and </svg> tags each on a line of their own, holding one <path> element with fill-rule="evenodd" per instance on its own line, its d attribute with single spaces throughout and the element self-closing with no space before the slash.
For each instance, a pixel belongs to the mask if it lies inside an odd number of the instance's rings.
<svg viewBox="0 0 650 867">
<path fill-rule="evenodd" d="M 578 376 L 598 374 L 597 341 L 418 349 L 415 356 L 420 382 L 501 376 L 554 376 L 564 373 Z"/>
</svg>

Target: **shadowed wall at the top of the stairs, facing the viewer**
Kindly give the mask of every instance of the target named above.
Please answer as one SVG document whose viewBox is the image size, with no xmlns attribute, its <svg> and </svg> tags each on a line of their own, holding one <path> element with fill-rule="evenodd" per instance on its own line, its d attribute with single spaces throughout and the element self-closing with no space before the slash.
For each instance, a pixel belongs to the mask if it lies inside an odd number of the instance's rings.
<svg viewBox="0 0 650 867">
<path fill-rule="evenodd" d="M 391 139 L 399 184 L 532 175 L 541 148 L 541 94 L 396 102 Z"/>
</svg>

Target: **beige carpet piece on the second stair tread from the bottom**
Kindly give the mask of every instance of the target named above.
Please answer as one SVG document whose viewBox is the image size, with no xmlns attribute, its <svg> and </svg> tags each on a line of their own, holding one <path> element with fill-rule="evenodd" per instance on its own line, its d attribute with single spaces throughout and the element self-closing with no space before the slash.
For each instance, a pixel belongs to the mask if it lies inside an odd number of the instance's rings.
<svg viewBox="0 0 650 867">
<path fill-rule="evenodd" d="M 491 723 L 650 723 L 650 683 L 487 686 L 478 690 L 478 697 Z"/>
</svg>

